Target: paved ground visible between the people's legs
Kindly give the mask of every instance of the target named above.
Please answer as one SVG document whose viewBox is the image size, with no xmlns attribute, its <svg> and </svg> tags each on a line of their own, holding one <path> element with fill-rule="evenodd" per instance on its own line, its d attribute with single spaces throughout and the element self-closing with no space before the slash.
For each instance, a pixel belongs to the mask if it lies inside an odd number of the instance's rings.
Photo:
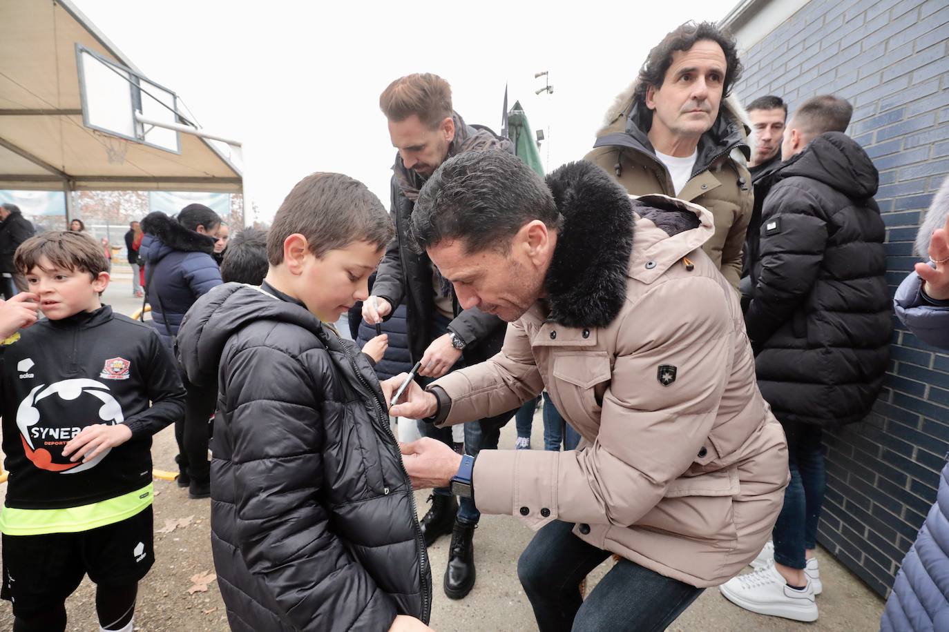
<svg viewBox="0 0 949 632">
<path fill-rule="evenodd" d="M 131 298 L 130 275 L 123 274 L 118 265 L 115 272 L 115 283 L 106 290 L 105 301 L 117 311 L 131 313 L 140 302 Z M 533 428 L 534 445 L 543 444 L 542 428 L 538 417 Z M 513 442 L 514 427 L 508 424 L 502 432 L 501 447 L 511 448 Z M 153 448 L 155 467 L 175 469 L 175 452 L 174 434 L 171 428 L 167 428 L 156 436 Z M 156 529 L 166 527 L 168 521 L 187 522 L 187 526 L 156 534 L 157 562 L 140 585 L 136 629 L 147 632 L 227 630 L 223 603 L 213 581 L 207 591 L 188 593 L 188 589 L 195 586 L 192 578 L 196 574 L 214 569 L 209 546 L 208 501 L 188 499 L 187 493 L 178 489 L 174 482 L 156 480 L 155 489 Z M 6 484 L 0 485 L 0 496 L 5 493 Z M 426 493 L 417 494 L 419 508 L 424 507 L 426 497 Z M 439 632 L 535 630 L 530 605 L 516 577 L 517 557 L 531 535 L 530 530 L 510 516 L 483 516 L 474 540 L 477 584 L 472 593 L 459 602 L 447 599 L 440 589 L 448 538 L 439 540 L 429 551 L 435 584 L 432 627 Z M 836 564 L 826 551 L 821 551 L 820 563 L 824 594 L 818 598 L 820 619 L 816 623 L 794 623 L 746 612 L 727 602 L 713 588 L 706 590 L 669 629 L 682 632 L 804 629 L 863 632 L 879 629 L 883 610 L 880 598 L 847 569 Z M 591 586 L 608 569 L 608 562 L 597 569 L 591 576 Z M 70 630 L 97 629 L 93 600 L 94 587 L 86 580 L 66 604 Z M 0 629 L 10 629 L 11 620 L 9 604 L 0 603 Z"/>
</svg>

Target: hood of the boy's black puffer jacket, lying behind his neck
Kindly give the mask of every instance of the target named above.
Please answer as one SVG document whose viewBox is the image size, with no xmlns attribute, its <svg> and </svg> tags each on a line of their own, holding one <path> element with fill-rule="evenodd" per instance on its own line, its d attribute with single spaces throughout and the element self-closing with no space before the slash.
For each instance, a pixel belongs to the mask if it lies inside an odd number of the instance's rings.
<svg viewBox="0 0 949 632">
<path fill-rule="evenodd" d="M 181 321 L 177 334 L 178 360 L 188 380 L 198 386 L 216 384 L 224 345 L 235 332 L 257 320 L 297 325 L 330 346 L 320 319 L 305 308 L 255 285 L 225 283 L 198 298 Z"/>
</svg>

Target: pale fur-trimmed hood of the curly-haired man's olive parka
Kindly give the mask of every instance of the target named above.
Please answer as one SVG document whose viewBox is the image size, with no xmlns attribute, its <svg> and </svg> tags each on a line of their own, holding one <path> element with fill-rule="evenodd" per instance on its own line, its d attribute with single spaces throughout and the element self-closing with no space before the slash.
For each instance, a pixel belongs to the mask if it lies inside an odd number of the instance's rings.
<svg viewBox="0 0 949 632">
<path fill-rule="evenodd" d="M 613 99 L 612 105 L 606 110 L 603 125 L 596 133 L 594 147 L 630 145 L 652 153 L 652 144 L 646 135 L 652 126 L 652 116 L 635 100 L 637 85 L 638 81 L 631 82 Z M 628 139 L 624 139 L 623 135 Z M 734 90 L 722 99 L 712 129 L 702 135 L 698 143 L 697 166 L 703 162 L 703 158 L 707 160 L 729 148 L 732 158 L 744 163 L 751 159 L 754 152 L 751 119 Z"/>
</svg>

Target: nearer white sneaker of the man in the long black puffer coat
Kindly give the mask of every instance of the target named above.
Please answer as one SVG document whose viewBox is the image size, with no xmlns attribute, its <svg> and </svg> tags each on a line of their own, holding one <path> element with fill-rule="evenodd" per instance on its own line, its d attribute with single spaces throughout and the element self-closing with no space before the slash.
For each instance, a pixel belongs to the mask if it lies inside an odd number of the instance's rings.
<svg viewBox="0 0 949 632">
<path fill-rule="evenodd" d="M 795 590 L 773 565 L 739 575 L 718 589 L 728 601 L 758 614 L 793 621 L 817 621 L 817 602 L 810 580 L 803 590 Z"/>
</svg>

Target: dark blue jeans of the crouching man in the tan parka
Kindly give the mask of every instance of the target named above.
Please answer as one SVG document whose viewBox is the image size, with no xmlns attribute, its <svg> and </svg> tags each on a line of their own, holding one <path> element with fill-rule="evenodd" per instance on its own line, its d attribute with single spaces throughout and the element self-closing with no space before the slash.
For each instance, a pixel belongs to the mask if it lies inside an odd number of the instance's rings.
<svg viewBox="0 0 949 632">
<path fill-rule="evenodd" d="M 517 577 L 541 632 L 664 630 L 702 588 L 621 559 L 587 595 L 580 582 L 609 557 L 554 520 L 538 531 L 517 561 Z"/>
</svg>

